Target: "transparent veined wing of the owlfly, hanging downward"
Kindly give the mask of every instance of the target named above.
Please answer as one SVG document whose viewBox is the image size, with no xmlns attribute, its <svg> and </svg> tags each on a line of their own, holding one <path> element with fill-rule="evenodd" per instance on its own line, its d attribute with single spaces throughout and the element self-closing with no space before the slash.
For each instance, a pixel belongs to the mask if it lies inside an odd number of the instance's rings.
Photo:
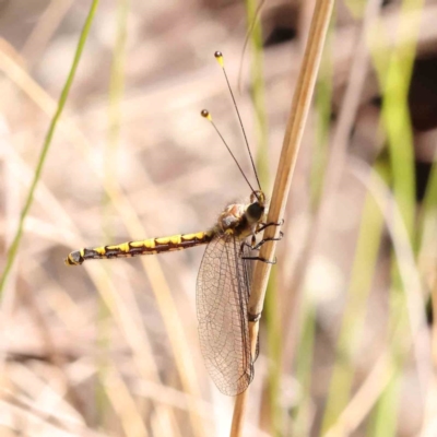
<svg viewBox="0 0 437 437">
<path fill-rule="evenodd" d="M 248 277 L 240 243 L 232 235 L 220 235 L 206 246 L 197 284 L 200 347 L 212 379 L 228 395 L 245 391 L 253 378 Z"/>
</svg>

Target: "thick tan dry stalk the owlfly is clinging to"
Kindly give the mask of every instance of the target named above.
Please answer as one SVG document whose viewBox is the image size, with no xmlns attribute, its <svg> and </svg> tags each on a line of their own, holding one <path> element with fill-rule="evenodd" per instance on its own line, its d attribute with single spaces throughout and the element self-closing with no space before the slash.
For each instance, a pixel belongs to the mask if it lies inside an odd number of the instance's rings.
<svg viewBox="0 0 437 437">
<path fill-rule="evenodd" d="M 299 76 L 294 93 L 290 119 L 287 122 L 283 149 L 274 182 L 272 200 L 269 209 L 268 222 L 279 222 L 285 211 L 292 184 L 293 170 L 296 165 L 297 154 L 300 146 L 305 122 L 308 116 L 311 97 L 319 70 L 321 52 L 331 20 L 333 0 L 318 0 L 315 4 L 308 43 L 305 49 Z M 277 235 L 275 226 L 268 227 L 264 238 Z M 260 257 L 273 259 L 275 241 L 268 241 L 260 250 Z M 269 281 L 271 264 L 257 262 L 253 271 L 253 288 L 249 299 L 248 311 L 251 315 L 262 312 L 264 294 Z M 250 339 L 252 350 L 256 347 L 259 321 L 250 324 Z M 234 417 L 231 436 L 240 436 L 243 433 L 243 417 L 248 390 L 239 394 L 234 408 Z"/>
</svg>

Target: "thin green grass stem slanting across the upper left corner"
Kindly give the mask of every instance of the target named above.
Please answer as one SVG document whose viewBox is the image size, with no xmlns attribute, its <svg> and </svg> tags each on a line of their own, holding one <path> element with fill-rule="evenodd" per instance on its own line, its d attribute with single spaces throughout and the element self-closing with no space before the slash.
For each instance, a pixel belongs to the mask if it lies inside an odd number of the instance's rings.
<svg viewBox="0 0 437 437">
<path fill-rule="evenodd" d="M 21 241 L 21 239 L 23 237 L 24 222 L 25 222 L 26 216 L 27 216 L 27 214 L 28 214 L 28 212 L 31 210 L 31 206 L 32 206 L 32 203 L 33 203 L 33 200 L 34 200 L 35 189 L 36 189 L 36 186 L 38 184 L 38 180 L 42 177 L 44 164 L 46 162 L 47 154 L 48 154 L 48 151 L 50 149 L 50 144 L 51 144 L 51 140 L 52 140 L 54 134 L 55 134 L 56 127 L 57 127 L 58 121 L 59 121 L 59 119 L 61 117 L 62 110 L 63 110 L 63 108 L 66 106 L 67 98 L 68 98 L 68 95 L 69 95 L 70 90 L 71 90 L 71 85 L 73 84 L 74 75 L 75 75 L 75 72 L 78 70 L 79 61 L 81 59 L 83 49 L 85 47 L 86 39 L 88 37 L 88 34 L 90 34 L 91 25 L 93 23 L 94 15 L 95 15 L 97 7 L 98 7 L 98 2 L 99 2 L 99 0 L 93 0 L 93 2 L 91 4 L 90 12 L 88 12 L 88 14 L 86 16 L 86 20 L 85 20 L 85 23 L 83 25 L 81 35 L 79 37 L 79 43 L 78 43 L 78 47 L 76 47 L 76 50 L 75 50 L 75 54 L 74 54 L 74 57 L 73 57 L 73 62 L 72 62 L 71 69 L 70 69 L 69 74 L 67 76 L 67 81 L 66 81 L 66 84 L 63 85 L 61 95 L 59 97 L 58 107 L 57 107 L 56 113 L 55 113 L 55 115 L 54 115 L 54 117 L 51 119 L 50 126 L 48 128 L 48 131 L 47 131 L 47 134 L 46 134 L 46 139 L 44 141 L 43 149 L 42 149 L 42 152 L 39 154 L 39 157 L 38 157 L 38 161 L 37 161 L 37 164 L 36 164 L 35 175 L 34 175 L 34 178 L 32 180 L 31 187 L 28 189 L 26 200 L 24 201 L 23 210 L 22 210 L 22 212 L 20 214 L 19 226 L 16 228 L 16 233 L 14 235 L 12 244 L 11 244 L 9 250 L 8 250 L 7 262 L 5 262 L 4 270 L 3 270 L 2 274 L 1 274 L 1 277 L 0 277 L 0 297 L 1 297 L 1 294 L 3 292 L 4 285 L 7 283 L 9 273 L 10 273 L 10 271 L 12 269 L 13 262 L 15 260 L 15 257 L 16 257 L 16 253 L 17 253 L 17 250 L 19 250 L 19 247 L 20 247 L 20 241 Z"/>
</svg>

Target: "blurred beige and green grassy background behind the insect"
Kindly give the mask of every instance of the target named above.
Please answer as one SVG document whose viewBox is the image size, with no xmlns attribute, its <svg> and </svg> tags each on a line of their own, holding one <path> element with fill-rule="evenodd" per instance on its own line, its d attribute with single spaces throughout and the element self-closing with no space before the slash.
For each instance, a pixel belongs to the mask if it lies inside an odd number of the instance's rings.
<svg viewBox="0 0 437 437">
<path fill-rule="evenodd" d="M 209 229 L 271 194 L 314 1 L 101 2 L 0 309 L 1 436 L 226 436 L 205 371 L 204 248 L 67 268 Z M 0 268 L 91 1 L 0 1 Z M 437 436 L 437 1 L 334 9 L 261 319 L 247 436 Z"/>
</svg>

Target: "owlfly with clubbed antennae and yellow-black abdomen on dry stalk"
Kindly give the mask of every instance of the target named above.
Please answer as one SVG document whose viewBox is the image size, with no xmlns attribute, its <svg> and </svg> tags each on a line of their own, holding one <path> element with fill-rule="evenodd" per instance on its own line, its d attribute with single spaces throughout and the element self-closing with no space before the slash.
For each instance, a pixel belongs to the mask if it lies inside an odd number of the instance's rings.
<svg viewBox="0 0 437 437">
<path fill-rule="evenodd" d="M 265 196 L 260 187 L 241 118 L 224 69 L 223 56 L 220 51 L 214 56 L 223 69 L 237 111 L 258 189 L 253 189 L 250 185 L 209 111 L 204 109 L 201 115 L 212 123 L 249 185 L 251 190 L 249 202 L 227 205 L 209 231 L 85 248 L 71 252 L 66 259 L 66 264 L 80 265 L 90 259 L 156 255 L 206 245 L 197 280 L 200 346 L 208 371 L 217 388 L 224 394 L 236 395 L 245 391 L 253 379 L 253 363 L 258 356 L 258 346 L 252 356 L 249 339 L 249 322 L 260 318 L 260 315 L 248 314 L 251 263 L 256 260 L 275 262 L 253 256 L 253 252 L 256 253 L 267 241 L 261 239 L 257 243 L 256 236 L 267 226 L 279 226 L 282 223 L 263 223 L 267 210 Z M 270 239 L 279 240 L 282 236 L 280 233 L 277 238 Z"/>
</svg>

